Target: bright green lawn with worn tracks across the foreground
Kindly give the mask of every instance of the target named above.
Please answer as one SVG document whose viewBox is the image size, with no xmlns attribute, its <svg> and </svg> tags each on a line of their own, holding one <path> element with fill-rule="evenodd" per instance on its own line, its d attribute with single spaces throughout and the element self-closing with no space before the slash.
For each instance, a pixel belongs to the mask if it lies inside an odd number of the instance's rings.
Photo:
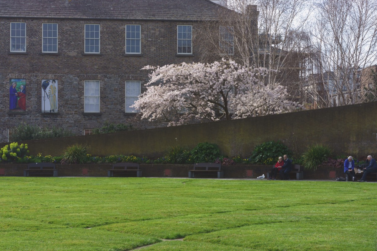
<svg viewBox="0 0 377 251">
<path fill-rule="evenodd" d="M 377 249 L 377 183 L 1 177 L 0 184 L 4 251 Z"/>
</svg>

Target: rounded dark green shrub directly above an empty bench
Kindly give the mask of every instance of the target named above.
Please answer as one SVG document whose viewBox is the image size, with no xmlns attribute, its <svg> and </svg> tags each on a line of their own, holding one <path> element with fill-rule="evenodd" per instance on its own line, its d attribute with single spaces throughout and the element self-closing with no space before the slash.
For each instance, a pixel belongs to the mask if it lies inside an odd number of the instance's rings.
<svg viewBox="0 0 377 251">
<path fill-rule="evenodd" d="M 199 143 L 191 150 L 190 160 L 193 163 L 199 162 L 215 162 L 216 158 L 221 157 L 218 145 L 213 143 Z"/>
</svg>

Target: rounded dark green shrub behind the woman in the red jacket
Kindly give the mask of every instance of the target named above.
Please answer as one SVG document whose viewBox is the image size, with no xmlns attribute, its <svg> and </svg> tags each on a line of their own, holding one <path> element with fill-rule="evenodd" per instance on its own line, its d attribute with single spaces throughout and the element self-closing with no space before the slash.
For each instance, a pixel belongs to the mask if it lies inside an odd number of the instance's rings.
<svg viewBox="0 0 377 251">
<path fill-rule="evenodd" d="M 254 163 L 272 165 L 276 163 L 279 156 L 283 157 L 285 154 L 292 155 L 288 147 L 281 141 L 268 141 L 256 146 L 250 159 Z"/>
</svg>

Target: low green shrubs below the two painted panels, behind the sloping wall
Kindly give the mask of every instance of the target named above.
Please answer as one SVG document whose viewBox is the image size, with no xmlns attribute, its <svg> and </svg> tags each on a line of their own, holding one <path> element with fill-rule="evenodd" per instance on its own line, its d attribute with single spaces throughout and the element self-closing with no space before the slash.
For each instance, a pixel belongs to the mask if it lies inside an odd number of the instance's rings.
<svg viewBox="0 0 377 251">
<path fill-rule="evenodd" d="M 21 122 L 15 128 L 14 132 L 10 136 L 11 141 L 22 140 L 35 140 L 41 138 L 58 138 L 58 137 L 70 137 L 75 135 L 72 131 L 64 128 L 52 126 L 52 128 L 41 128 L 35 125 L 29 125 L 25 122 Z"/>
</svg>

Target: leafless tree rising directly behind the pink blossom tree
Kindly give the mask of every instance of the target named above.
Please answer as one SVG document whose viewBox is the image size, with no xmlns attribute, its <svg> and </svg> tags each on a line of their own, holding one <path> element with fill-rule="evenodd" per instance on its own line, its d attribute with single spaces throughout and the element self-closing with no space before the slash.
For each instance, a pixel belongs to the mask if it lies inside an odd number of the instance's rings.
<svg viewBox="0 0 377 251">
<path fill-rule="evenodd" d="M 302 30 L 310 12 L 308 0 L 229 0 L 218 20 L 206 22 L 202 60 L 222 57 L 247 67 L 266 67 L 274 70 L 261 79 L 266 85 L 299 90 L 307 57 Z"/>
</svg>

